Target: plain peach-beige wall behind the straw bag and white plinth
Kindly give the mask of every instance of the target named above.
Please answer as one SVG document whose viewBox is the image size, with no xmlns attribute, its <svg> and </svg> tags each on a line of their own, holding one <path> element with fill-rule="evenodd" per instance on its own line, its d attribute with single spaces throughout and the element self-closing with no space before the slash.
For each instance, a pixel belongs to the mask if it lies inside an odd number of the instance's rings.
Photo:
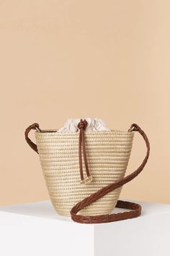
<svg viewBox="0 0 170 256">
<path fill-rule="evenodd" d="M 146 130 L 151 158 L 122 197 L 170 203 L 169 9 L 168 0 L 0 1 L 1 205 L 48 198 L 24 129 L 86 116 Z M 135 135 L 128 173 L 144 154 Z"/>
</svg>

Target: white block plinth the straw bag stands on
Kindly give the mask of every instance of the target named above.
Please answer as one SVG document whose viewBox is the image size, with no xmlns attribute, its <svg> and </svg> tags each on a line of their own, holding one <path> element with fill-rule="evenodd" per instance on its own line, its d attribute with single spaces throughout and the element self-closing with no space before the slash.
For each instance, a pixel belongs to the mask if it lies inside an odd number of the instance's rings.
<svg viewBox="0 0 170 256">
<path fill-rule="evenodd" d="M 169 256 L 170 205 L 140 202 L 139 218 L 79 224 L 50 201 L 0 207 L 0 255 Z"/>
</svg>

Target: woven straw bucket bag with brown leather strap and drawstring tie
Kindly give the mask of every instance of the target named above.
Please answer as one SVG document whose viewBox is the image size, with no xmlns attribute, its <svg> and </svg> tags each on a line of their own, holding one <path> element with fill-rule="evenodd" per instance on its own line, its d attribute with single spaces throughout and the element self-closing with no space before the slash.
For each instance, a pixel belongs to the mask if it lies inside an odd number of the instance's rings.
<svg viewBox="0 0 170 256">
<path fill-rule="evenodd" d="M 79 223 L 104 223 L 140 216 L 140 205 L 118 198 L 122 185 L 134 179 L 148 161 L 150 145 L 146 134 L 137 124 L 132 124 L 128 132 L 86 132 L 86 125 L 86 120 L 81 119 L 79 132 L 42 130 L 37 123 L 25 130 L 27 143 L 39 153 L 53 207 L 58 214 L 71 216 Z M 37 145 L 28 137 L 32 129 L 35 129 Z M 139 168 L 125 176 L 134 132 L 142 135 L 147 153 Z M 111 213 L 115 207 L 130 211 Z"/>
</svg>

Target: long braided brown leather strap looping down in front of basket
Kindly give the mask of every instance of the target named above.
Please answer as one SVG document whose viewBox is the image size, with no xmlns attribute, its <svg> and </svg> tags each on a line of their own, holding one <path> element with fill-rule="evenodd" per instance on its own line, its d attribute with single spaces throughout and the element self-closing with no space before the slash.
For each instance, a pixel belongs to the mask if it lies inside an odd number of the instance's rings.
<svg viewBox="0 0 170 256">
<path fill-rule="evenodd" d="M 80 210 L 91 205 L 91 203 L 96 202 L 97 200 L 99 200 L 99 198 L 104 197 L 104 195 L 107 195 L 109 192 L 112 192 L 114 189 L 117 189 L 118 187 L 121 187 L 122 185 L 130 182 L 132 179 L 135 178 L 135 176 L 138 176 L 138 174 L 140 174 L 140 172 L 143 170 L 144 166 L 146 165 L 146 162 L 148 161 L 148 156 L 150 153 L 150 144 L 148 141 L 148 137 L 146 136 L 145 132 L 143 132 L 143 130 L 138 126 L 138 124 L 132 124 L 130 129 L 135 132 L 139 132 L 146 142 L 147 153 L 146 153 L 146 157 L 143 160 L 143 163 L 132 174 L 126 176 L 119 182 L 109 184 L 106 187 L 99 189 L 99 191 L 91 194 L 89 197 L 84 198 L 84 200 L 82 200 L 81 202 L 78 202 L 75 206 L 73 206 L 73 208 L 71 209 L 71 218 L 73 219 L 73 221 L 76 221 L 79 223 L 104 223 L 104 222 L 112 222 L 112 221 L 122 221 L 128 218 L 135 218 L 140 216 L 140 213 L 141 213 L 140 205 L 135 204 L 134 202 L 124 202 L 120 200 L 117 201 L 116 207 L 128 208 L 131 210 L 130 212 L 112 213 L 112 214 L 101 215 L 101 216 L 77 215 L 77 213 Z"/>
</svg>

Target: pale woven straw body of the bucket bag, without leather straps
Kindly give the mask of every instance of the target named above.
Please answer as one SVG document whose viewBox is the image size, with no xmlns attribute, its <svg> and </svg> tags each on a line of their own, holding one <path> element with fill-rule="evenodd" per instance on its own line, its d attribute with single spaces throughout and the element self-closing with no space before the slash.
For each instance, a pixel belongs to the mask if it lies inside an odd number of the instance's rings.
<svg viewBox="0 0 170 256">
<path fill-rule="evenodd" d="M 50 199 L 57 213 L 62 216 L 70 216 L 70 210 L 77 202 L 122 179 L 128 166 L 134 132 L 112 130 L 84 132 L 84 135 L 89 172 L 93 177 L 89 184 L 80 184 L 79 132 L 35 132 Z M 115 189 L 79 214 L 89 216 L 111 213 L 121 189 Z"/>
</svg>

